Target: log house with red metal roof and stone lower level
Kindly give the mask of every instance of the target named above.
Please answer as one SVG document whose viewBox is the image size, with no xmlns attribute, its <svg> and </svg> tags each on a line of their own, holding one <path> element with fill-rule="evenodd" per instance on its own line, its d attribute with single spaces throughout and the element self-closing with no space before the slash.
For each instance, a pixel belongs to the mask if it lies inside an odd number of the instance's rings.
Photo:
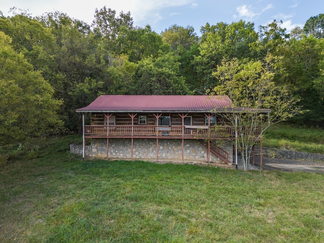
<svg viewBox="0 0 324 243">
<path fill-rule="evenodd" d="M 235 132 L 219 115 L 230 107 L 227 96 L 102 95 L 76 110 L 91 138 L 83 156 L 231 164 Z"/>
</svg>

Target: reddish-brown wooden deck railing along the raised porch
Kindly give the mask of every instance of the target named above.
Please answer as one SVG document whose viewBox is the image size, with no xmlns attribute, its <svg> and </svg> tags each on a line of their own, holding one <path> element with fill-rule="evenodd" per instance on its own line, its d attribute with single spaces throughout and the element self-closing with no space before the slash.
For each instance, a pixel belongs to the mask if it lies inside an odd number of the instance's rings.
<svg viewBox="0 0 324 243">
<path fill-rule="evenodd" d="M 255 132 L 258 136 L 261 129 Z M 228 126 L 101 126 L 86 125 L 86 136 L 104 137 L 151 137 L 151 136 L 174 136 L 190 138 L 226 138 L 234 137 L 235 132 Z"/>
</svg>

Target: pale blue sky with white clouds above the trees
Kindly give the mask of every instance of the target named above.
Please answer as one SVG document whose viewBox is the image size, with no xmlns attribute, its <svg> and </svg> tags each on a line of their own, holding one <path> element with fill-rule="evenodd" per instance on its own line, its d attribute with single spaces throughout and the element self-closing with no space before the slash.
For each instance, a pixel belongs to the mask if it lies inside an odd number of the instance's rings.
<svg viewBox="0 0 324 243">
<path fill-rule="evenodd" d="M 256 31 L 260 25 L 281 20 L 281 27 L 290 32 L 296 26 L 303 27 L 310 17 L 324 13 L 323 0 L 2 0 L 0 11 L 6 17 L 12 16 L 12 7 L 27 10 L 33 17 L 59 11 L 91 25 L 95 10 L 104 6 L 117 14 L 130 11 L 134 25 L 149 24 L 157 33 L 177 24 L 194 27 L 198 35 L 206 23 L 240 19 L 253 22 Z"/>
</svg>

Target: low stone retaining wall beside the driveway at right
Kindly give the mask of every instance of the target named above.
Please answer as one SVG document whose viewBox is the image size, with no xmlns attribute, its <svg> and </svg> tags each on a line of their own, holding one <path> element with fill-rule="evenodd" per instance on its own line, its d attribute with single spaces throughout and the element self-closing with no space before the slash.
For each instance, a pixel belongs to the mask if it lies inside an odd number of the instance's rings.
<svg viewBox="0 0 324 243">
<path fill-rule="evenodd" d="M 260 148 L 255 148 L 255 153 L 260 153 Z M 262 148 L 262 155 L 269 158 L 287 158 L 305 161 L 324 161 L 324 154 L 319 153 L 305 153 L 291 150 L 280 150 L 276 148 Z"/>
</svg>

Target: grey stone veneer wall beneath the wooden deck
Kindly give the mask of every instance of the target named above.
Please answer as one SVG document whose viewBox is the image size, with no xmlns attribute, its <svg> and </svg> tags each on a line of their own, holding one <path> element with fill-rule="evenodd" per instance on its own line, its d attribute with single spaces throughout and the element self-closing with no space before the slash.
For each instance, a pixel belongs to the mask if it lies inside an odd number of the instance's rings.
<svg viewBox="0 0 324 243">
<path fill-rule="evenodd" d="M 229 163 L 233 159 L 233 148 L 231 143 L 226 143 L 222 148 L 229 152 Z M 70 145 L 70 151 L 82 154 L 82 146 Z M 184 161 L 206 161 L 207 148 L 195 139 L 185 139 L 183 149 Z M 86 146 L 86 156 L 107 158 L 107 139 L 92 139 L 91 145 Z M 131 139 L 109 139 L 110 159 L 131 159 Z M 156 140 L 155 139 L 134 139 L 133 159 L 156 161 Z M 181 139 L 159 139 L 158 140 L 159 161 L 182 161 L 182 140 Z M 212 152 L 210 161 L 223 163 L 222 160 Z"/>
</svg>

